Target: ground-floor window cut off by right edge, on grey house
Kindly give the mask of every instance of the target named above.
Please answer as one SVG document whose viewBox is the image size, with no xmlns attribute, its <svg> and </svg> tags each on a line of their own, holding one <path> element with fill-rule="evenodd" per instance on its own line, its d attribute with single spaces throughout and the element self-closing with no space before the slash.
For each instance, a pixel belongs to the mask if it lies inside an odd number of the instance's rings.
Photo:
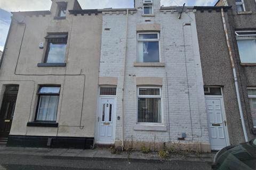
<svg viewBox="0 0 256 170">
<path fill-rule="evenodd" d="M 248 98 L 250 102 L 251 114 L 252 114 L 252 122 L 254 128 L 256 128 L 256 88 L 248 88 Z"/>
</svg>

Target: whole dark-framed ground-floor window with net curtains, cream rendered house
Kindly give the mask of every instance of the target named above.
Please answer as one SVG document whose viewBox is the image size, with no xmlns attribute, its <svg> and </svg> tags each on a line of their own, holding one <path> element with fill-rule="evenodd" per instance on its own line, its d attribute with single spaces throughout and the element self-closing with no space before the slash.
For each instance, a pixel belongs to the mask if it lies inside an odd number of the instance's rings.
<svg viewBox="0 0 256 170">
<path fill-rule="evenodd" d="M 36 121 L 56 122 L 59 96 L 60 87 L 39 88 Z"/>
</svg>

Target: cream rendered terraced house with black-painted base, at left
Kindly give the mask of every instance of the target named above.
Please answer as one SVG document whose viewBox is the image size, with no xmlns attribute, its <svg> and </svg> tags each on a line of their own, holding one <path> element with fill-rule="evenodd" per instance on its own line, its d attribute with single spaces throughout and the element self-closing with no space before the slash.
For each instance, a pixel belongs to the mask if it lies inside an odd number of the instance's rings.
<svg viewBox="0 0 256 170">
<path fill-rule="evenodd" d="M 74 10 L 53 0 L 50 11 L 12 13 L 0 73 L 9 146 L 93 146 L 102 15 Z"/>
</svg>

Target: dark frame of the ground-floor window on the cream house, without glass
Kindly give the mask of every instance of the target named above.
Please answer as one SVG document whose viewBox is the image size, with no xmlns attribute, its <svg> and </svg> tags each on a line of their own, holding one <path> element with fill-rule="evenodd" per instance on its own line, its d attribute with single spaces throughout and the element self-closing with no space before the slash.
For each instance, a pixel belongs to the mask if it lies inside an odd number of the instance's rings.
<svg viewBox="0 0 256 170">
<path fill-rule="evenodd" d="M 42 87 L 59 87 L 60 91 L 59 91 L 59 94 L 57 94 L 57 93 L 43 93 L 42 94 L 40 92 Z M 50 85 L 48 85 L 48 84 L 39 85 L 39 88 L 38 88 L 37 93 L 36 93 L 37 94 L 37 106 L 36 106 L 36 114 L 35 114 L 34 122 L 39 122 L 39 123 L 56 123 L 57 122 L 58 107 L 59 107 L 59 101 L 60 101 L 60 92 L 61 92 L 61 86 L 60 85 L 52 85 L 52 84 L 50 84 Z M 57 111 L 56 111 L 56 120 L 55 121 L 38 121 L 37 120 L 41 96 L 59 96 L 58 106 L 57 106 Z"/>
</svg>

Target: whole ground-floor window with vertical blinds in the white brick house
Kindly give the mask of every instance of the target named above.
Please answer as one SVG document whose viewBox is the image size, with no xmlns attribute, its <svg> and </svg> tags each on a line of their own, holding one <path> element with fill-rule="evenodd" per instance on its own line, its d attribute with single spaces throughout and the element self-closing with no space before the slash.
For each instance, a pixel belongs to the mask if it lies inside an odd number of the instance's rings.
<svg viewBox="0 0 256 170">
<path fill-rule="evenodd" d="M 161 93 L 159 87 L 138 88 L 138 123 L 162 123 Z"/>
</svg>

